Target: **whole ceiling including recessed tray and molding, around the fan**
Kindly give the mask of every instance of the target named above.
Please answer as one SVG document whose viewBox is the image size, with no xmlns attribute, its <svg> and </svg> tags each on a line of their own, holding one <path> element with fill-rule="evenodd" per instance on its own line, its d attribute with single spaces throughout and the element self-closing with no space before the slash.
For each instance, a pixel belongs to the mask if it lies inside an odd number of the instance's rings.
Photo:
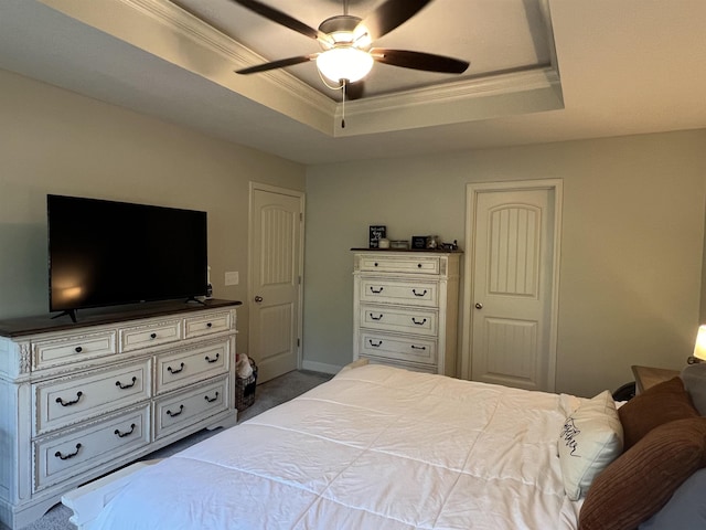
<svg viewBox="0 0 706 530">
<path fill-rule="evenodd" d="M 311 26 L 341 12 L 268 3 Z M 313 64 L 233 73 L 318 44 L 229 0 L 2 0 L 0 68 L 322 163 L 705 128 L 705 21 L 704 0 L 436 0 L 375 44 L 468 73 L 376 64 L 345 128 Z"/>
</svg>

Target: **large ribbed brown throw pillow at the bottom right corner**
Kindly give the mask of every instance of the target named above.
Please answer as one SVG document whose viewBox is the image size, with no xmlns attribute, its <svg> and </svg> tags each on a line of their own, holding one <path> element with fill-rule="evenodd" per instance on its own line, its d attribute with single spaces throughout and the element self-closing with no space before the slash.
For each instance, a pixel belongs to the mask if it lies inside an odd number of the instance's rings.
<svg viewBox="0 0 706 530">
<path fill-rule="evenodd" d="M 578 530 L 629 530 L 656 513 L 706 464 L 706 417 L 655 427 L 593 480 Z"/>
</svg>

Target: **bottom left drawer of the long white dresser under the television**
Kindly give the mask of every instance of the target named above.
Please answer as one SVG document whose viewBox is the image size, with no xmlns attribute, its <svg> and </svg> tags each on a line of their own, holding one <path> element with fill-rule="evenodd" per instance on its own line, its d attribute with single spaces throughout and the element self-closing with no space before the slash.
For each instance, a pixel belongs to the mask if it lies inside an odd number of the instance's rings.
<svg viewBox="0 0 706 530">
<path fill-rule="evenodd" d="M 150 407 L 33 442 L 34 491 L 94 469 L 150 442 Z"/>
</svg>

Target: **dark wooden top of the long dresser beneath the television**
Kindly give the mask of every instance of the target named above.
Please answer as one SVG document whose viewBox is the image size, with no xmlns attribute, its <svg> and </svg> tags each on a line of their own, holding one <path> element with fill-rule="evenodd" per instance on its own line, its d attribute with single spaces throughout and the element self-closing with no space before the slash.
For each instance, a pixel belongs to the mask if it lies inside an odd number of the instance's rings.
<svg viewBox="0 0 706 530">
<path fill-rule="evenodd" d="M 145 304 L 129 304 L 97 309 L 82 309 L 77 312 L 77 322 L 73 322 L 68 315 L 52 318 L 54 315 L 45 314 L 34 317 L 21 317 L 0 320 L 0 337 L 23 337 L 28 335 L 47 331 L 63 331 L 84 328 L 87 326 L 100 326 L 125 320 L 160 317 L 180 312 L 203 311 L 204 309 L 217 309 L 222 307 L 239 306 L 236 300 L 208 299 L 200 303 L 185 303 L 182 300 L 149 301 Z"/>
</svg>

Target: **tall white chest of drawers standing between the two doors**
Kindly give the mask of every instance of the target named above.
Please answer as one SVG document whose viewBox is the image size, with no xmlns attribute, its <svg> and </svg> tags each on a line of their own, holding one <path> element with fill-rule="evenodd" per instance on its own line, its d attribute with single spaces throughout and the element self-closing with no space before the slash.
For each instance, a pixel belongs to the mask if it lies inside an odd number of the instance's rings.
<svg viewBox="0 0 706 530">
<path fill-rule="evenodd" d="M 356 251 L 353 359 L 456 375 L 461 255 Z"/>
</svg>

